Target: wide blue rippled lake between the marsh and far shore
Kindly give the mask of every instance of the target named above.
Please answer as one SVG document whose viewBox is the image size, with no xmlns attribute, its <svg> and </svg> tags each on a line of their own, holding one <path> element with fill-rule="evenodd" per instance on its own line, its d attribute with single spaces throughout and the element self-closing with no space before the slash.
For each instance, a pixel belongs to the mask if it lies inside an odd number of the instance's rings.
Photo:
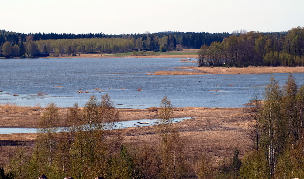
<svg viewBox="0 0 304 179">
<path fill-rule="evenodd" d="M 197 64 L 180 58 L 0 59 L 0 102 L 71 107 L 76 102 L 83 106 L 91 95 L 100 99 L 109 93 L 118 108 L 158 107 L 164 96 L 174 107 L 243 107 L 255 90 L 262 92 L 271 75 L 280 85 L 288 77 L 288 73 L 147 75 L 182 66 Z M 293 76 L 298 85 L 304 83 L 303 73 Z M 142 91 L 137 91 L 139 87 Z M 79 89 L 89 93 L 76 93 Z"/>
</svg>

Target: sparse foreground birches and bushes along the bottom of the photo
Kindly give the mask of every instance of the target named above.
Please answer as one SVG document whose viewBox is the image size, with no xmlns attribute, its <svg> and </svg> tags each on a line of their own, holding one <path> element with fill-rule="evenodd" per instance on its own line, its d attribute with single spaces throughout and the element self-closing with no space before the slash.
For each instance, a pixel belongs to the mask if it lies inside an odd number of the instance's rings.
<svg viewBox="0 0 304 179">
<path fill-rule="evenodd" d="M 36 147 L 20 144 L 11 151 L 9 164 L 0 167 L 2 178 L 33 178 L 42 174 L 62 179 L 236 178 L 281 179 L 304 177 L 304 85 L 289 74 L 280 87 L 271 76 L 262 93 L 255 92 L 245 108 L 244 127 L 250 140 L 240 160 L 235 147 L 231 157 L 215 162 L 208 152 L 190 153 L 172 122 L 173 104 L 165 96 L 158 108 L 154 145 L 130 146 L 114 129 L 119 111 L 108 94 L 91 96 L 83 108 L 75 103 L 59 128 L 58 108 L 50 103 L 40 118 Z"/>
</svg>

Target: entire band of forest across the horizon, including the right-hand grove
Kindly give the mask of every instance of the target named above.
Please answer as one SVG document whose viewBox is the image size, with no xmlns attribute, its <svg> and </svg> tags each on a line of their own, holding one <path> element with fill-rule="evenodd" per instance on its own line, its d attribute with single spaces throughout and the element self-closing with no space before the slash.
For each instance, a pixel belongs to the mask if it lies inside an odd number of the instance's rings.
<svg viewBox="0 0 304 179">
<path fill-rule="evenodd" d="M 35 57 L 80 53 L 122 53 L 133 49 L 168 51 L 200 49 L 200 66 L 303 66 L 304 28 L 288 32 L 159 32 L 129 35 L 23 34 L 0 30 L 2 57 Z"/>
</svg>

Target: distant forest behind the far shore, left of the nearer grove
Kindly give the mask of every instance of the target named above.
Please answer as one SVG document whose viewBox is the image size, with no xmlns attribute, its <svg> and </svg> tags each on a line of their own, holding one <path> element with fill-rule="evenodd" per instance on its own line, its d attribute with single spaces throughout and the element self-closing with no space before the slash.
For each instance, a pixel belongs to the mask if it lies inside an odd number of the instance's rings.
<svg viewBox="0 0 304 179">
<path fill-rule="evenodd" d="M 147 51 L 160 48 L 161 51 L 175 50 L 177 44 L 183 48 L 199 49 L 202 44 L 222 41 L 229 33 L 206 32 L 159 32 L 127 35 L 96 34 L 24 34 L 0 30 L 0 54 L 3 56 L 34 56 L 38 52 L 55 55 L 77 53 L 120 53 L 132 49 Z M 3 50 L 3 45 L 5 50 Z M 12 47 L 9 47 L 9 45 Z M 44 48 L 46 46 L 46 48 Z M 8 49 L 8 50 L 7 50 Z M 1 51 L 2 50 L 2 51 Z"/>
</svg>

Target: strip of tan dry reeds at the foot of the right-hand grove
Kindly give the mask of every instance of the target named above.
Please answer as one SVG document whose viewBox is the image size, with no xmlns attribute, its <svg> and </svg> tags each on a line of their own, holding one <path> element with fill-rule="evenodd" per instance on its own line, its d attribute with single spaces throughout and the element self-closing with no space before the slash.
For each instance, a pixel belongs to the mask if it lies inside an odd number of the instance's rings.
<svg viewBox="0 0 304 179">
<path fill-rule="evenodd" d="M 181 68 L 178 68 L 181 69 Z M 199 70 L 199 74 L 270 74 L 270 73 L 303 73 L 304 67 L 247 67 L 247 68 L 236 68 L 236 67 L 184 67 L 182 69 Z"/>
</svg>

